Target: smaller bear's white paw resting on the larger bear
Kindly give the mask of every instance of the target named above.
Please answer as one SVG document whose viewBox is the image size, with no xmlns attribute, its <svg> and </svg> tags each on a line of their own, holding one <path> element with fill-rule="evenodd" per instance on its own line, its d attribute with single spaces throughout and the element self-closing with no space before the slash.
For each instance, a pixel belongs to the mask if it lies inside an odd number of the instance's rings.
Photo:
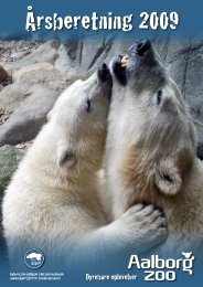
<svg viewBox="0 0 203 287">
<path fill-rule="evenodd" d="M 137 252 L 147 252 L 167 240 L 167 221 L 154 205 L 137 204 L 118 220 L 126 243 Z"/>
</svg>

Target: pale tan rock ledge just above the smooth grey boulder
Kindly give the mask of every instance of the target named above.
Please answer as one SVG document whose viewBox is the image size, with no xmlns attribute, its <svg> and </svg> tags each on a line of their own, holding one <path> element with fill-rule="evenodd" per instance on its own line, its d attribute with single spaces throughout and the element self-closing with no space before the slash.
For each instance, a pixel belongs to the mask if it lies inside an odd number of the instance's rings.
<svg viewBox="0 0 203 287">
<path fill-rule="evenodd" d="M 73 73 L 62 73 L 49 63 L 28 65 L 13 73 L 14 83 L 0 93 L 0 109 L 13 111 L 30 97 L 35 84 L 62 93 L 70 84 L 78 78 Z"/>
</svg>

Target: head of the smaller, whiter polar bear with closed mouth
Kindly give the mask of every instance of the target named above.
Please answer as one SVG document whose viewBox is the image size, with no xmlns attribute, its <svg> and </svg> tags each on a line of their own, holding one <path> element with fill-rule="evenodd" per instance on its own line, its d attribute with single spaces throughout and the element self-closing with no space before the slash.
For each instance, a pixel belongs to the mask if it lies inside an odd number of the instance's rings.
<svg viewBox="0 0 203 287">
<path fill-rule="evenodd" d="M 65 171 L 97 170 L 105 149 L 111 76 L 106 64 L 86 81 L 76 81 L 47 115 L 55 130 L 56 162 Z"/>
</svg>

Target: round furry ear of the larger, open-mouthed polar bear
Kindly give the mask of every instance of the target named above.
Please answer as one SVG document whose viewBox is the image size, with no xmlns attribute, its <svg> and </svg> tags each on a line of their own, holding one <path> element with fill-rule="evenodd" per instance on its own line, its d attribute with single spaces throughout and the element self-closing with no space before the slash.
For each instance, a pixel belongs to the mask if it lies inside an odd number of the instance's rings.
<svg viewBox="0 0 203 287">
<path fill-rule="evenodd" d="M 158 190 L 165 195 L 175 195 L 180 191 L 182 179 L 173 159 L 164 159 L 158 163 L 154 183 Z"/>
</svg>

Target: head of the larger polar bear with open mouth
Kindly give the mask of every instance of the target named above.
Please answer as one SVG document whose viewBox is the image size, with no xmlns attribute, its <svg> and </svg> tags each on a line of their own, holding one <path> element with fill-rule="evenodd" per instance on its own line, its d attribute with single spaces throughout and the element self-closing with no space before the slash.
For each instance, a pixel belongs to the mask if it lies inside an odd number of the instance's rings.
<svg viewBox="0 0 203 287">
<path fill-rule="evenodd" d="M 140 190 L 154 188 L 174 195 L 195 157 L 196 137 L 188 106 L 167 75 L 148 40 L 133 44 L 127 55 L 111 61 L 113 98 L 121 105 L 120 129 L 126 146 L 120 166 L 124 182 Z M 117 97 L 117 98 L 116 98 Z M 119 118 L 118 118 L 119 120 Z"/>
</svg>

